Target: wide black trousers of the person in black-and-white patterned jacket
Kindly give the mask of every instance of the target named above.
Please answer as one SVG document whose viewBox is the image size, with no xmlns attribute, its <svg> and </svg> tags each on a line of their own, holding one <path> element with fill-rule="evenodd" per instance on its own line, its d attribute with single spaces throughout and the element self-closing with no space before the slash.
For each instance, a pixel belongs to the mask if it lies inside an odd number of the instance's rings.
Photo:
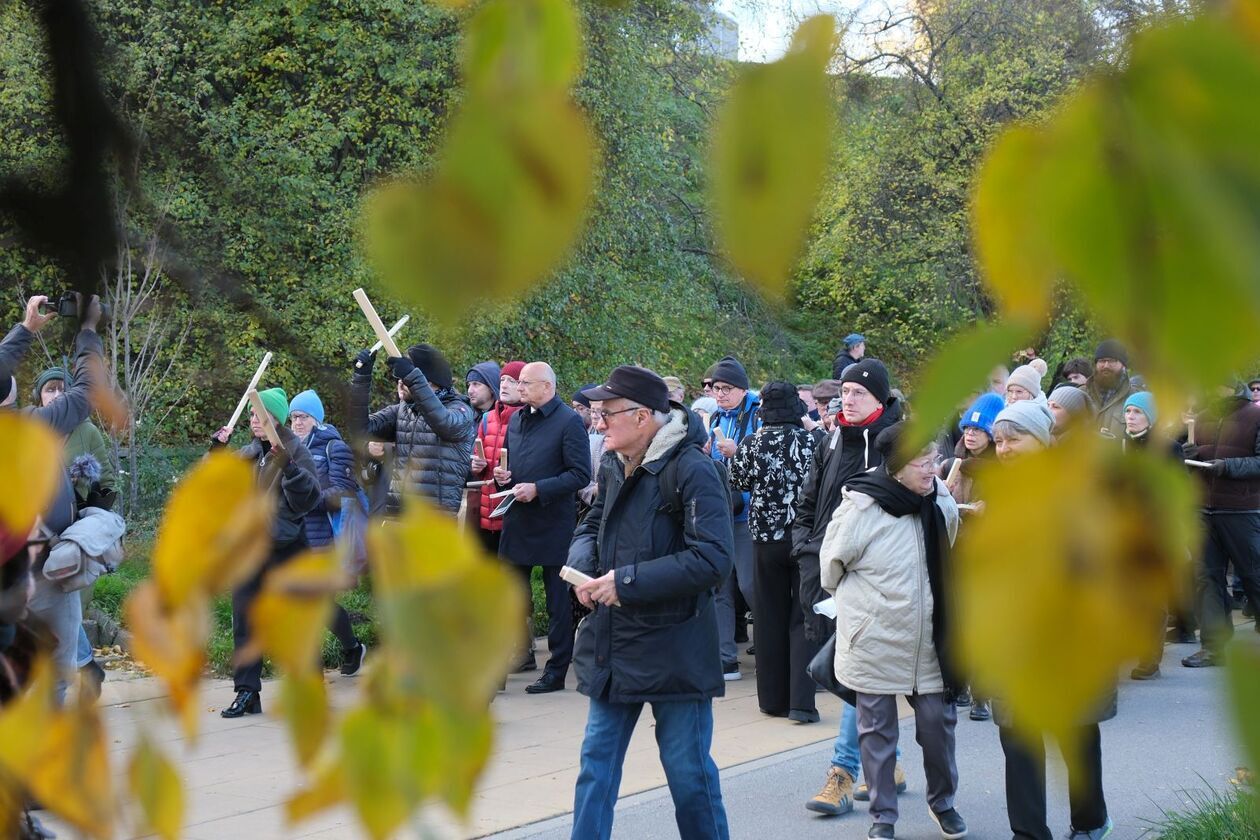
<svg viewBox="0 0 1260 840">
<path fill-rule="evenodd" d="M 753 543 L 752 559 L 757 705 L 775 715 L 816 712 L 809 662 L 819 645 L 805 639 L 800 567 L 791 558 L 791 543 Z"/>
</svg>

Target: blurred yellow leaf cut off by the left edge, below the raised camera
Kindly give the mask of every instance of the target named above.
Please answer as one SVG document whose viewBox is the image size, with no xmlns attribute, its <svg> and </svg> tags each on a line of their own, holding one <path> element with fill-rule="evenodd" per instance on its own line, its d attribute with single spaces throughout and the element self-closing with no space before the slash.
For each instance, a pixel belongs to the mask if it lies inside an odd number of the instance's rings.
<svg viewBox="0 0 1260 840">
<path fill-rule="evenodd" d="M 0 525 L 26 534 L 62 482 L 62 443 L 50 428 L 0 411 Z"/>
</svg>

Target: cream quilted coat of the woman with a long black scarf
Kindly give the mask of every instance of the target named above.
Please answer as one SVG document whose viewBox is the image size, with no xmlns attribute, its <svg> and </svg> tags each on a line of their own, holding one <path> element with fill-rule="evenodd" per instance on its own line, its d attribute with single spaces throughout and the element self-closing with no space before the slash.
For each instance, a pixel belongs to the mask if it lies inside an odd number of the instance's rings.
<svg viewBox="0 0 1260 840">
<path fill-rule="evenodd" d="M 936 479 L 950 545 L 958 504 Z M 919 516 L 893 516 L 844 490 L 819 553 L 823 588 L 835 594 L 835 676 L 861 694 L 945 690 L 932 645 L 932 591 Z"/>
</svg>

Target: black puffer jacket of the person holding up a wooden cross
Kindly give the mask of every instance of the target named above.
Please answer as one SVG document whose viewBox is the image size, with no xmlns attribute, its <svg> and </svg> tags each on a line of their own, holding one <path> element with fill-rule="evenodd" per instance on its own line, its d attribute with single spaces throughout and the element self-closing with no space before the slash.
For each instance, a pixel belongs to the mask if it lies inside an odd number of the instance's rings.
<svg viewBox="0 0 1260 840">
<path fill-rule="evenodd" d="M 350 380 L 350 429 L 394 445 L 393 472 L 386 513 L 402 510 L 402 496 L 415 494 L 450 513 L 460 509 L 472 462 L 475 412 L 467 397 L 442 397 L 420 368 L 403 380 L 411 400 L 368 414 L 372 369 L 355 370 Z"/>
</svg>

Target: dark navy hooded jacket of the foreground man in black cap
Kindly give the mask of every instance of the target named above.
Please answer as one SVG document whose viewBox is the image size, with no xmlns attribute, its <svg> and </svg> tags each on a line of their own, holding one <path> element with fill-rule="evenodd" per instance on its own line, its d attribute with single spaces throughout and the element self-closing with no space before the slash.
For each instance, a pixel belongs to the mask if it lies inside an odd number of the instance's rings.
<svg viewBox="0 0 1260 840">
<path fill-rule="evenodd" d="M 592 577 L 616 569 L 621 604 L 596 606 L 578 626 L 573 669 L 587 696 L 697 700 L 726 689 L 713 592 L 731 573 L 735 536 L 723 480 L 701 450 L 706 437 L 696 414 L 675 408 L 629 477 L 617 455 L 600 462 L 600 491 L 568 564 Z M 680 516 L 660 496 L 670 458 L 679 458 Z"/>
</svg>

